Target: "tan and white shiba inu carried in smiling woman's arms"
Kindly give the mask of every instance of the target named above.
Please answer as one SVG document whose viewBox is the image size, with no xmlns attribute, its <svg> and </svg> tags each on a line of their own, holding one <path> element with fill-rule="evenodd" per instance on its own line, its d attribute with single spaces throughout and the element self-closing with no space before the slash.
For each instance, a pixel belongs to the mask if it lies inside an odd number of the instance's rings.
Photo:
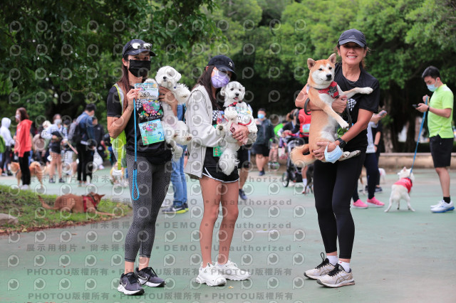
<svg viewBox="0 0 456 303">
<path fill-rule="evenodd" d="M 331 105 L 340 95 L 346 95 L 348 98 L 353 95 L 370 94 L 373 92 L 371 87 L 355 87 L 352 90 L 343 92 L 341 87 L 334 82 L 334 70 L 336 64 L 336 54 L 333 53 L 327 60 L 315 61 L 312 58 L 307 60 L 309 67 L 309 87 L 308 95 L 312 104 L 321 110 L 312 112 L 312 121 L 309 129 L 309 144 L 296 147 L 291 151 L 291 161 L 296 166 L 304 167 L 316 161 L 314 150 L 319 147 L 317 142 L 334 142 L 336 137 L 336 127 L 339 124 L 342 128 L 348 128 L 348 123 L 342 119 L 338 113 L 334 112 Z M 310 154 L 304 156 L 304 153 Z M 339 161 L 357 156 L 360 151 L 345 151 Z M 324 161 L 324 160 L 323 160 Z"/>
</svg>

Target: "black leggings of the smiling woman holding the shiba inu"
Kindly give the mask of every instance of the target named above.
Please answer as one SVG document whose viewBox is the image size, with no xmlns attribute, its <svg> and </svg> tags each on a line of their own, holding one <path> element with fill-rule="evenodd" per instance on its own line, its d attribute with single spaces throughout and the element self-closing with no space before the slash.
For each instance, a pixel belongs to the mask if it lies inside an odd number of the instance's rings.
<svg viewBox="0 0 456 303">
<path fill-rule="evenodd" d="M 314 166 L 315 207 L 323 245 L 326 253 L 335 252 L 338 239 L 339 257 L 343 259 L 350 259 L 353 249 L 355 223 L 350 201 L 365 155 L 363 151 L 335 164 L 316 161 Z"/>
</svg>

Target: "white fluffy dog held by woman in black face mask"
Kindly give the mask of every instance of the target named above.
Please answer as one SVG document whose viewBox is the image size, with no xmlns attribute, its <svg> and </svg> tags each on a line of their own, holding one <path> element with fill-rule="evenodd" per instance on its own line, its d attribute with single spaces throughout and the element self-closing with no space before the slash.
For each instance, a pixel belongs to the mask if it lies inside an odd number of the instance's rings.
<svg viewBox="0 0 456 303">
<path fill-rule="evenodd" d="M 171 90 L 172 94 L 175 95 L 178 104 L 185 104 L 188 97 L 190 96 L 190 90 L 187 86 L 182 83 L 177 83 L 181 78 L 180 73 L 172 68 L 171 66 L 163 66 L 157 71 L 155 75 L 155 80 L 147 79 L 146 83 L 156 83 L 162 87 L 166 87 L 168 90 Z M 192 135 L 190 130 L 187 127 L 187 124 L 183 121 L 179 121 L 177 117 L 172 112 L 172 108 L 165 102 L 162 102 L 163 107 L 163 117 L 162 117 L 162 127 L 165 132 L 165 141 L 167 144 L 170 144 L 173 151 L 173 158 L 175 160 L 180 159 L 182 156 L 182 147 L 178 144 L 187 145 L 192 140 Z"/>
</svg>

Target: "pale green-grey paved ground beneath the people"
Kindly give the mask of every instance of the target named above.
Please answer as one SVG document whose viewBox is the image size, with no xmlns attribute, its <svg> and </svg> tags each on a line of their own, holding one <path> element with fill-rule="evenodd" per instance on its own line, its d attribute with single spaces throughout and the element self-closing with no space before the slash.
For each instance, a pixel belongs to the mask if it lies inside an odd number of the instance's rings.
<svg viewBox="0 0 456 303">
<path fill-rule="evenodd" d="M 108 170 L 97 173 L 98 191 L 120 193 L 103 181 L 106 174 Z M 321 262 L 323 251 L 313 195 L 301 195 L 301 188 L 294 186 L 284 188 L 279 174 L 257 174 L 249 176 L 249 200 L 239 203 L 231 253 L 239 267 L 252 272 L 252 280 L 229 281 L 225 287 L 194 282 L 200 262 L 194 231 L 199 228 L 202 199 L 198 184 L 190 182 L 190 211 L 157 220 L 152 267 L 167 279 L 165 289 L 147 288 L 142 297 L 125 297 L 116 290 L 130 225 L 126 217 L 1 237 L 0 302 L 455 302 L 456 214 L 430 213 L 429 205 L 441 198 L 433 170 L 415 171 L 415 213 L 405 206 L 390 213 L 382 208 L 352 210 L 356 285 L 340 289 L 323 288 L 303 276 L 304 270 Z M 451 177 L 456 195 L 456 174 Z M 380 201 L 388 200 L 395 179 L 394 173 L 387 175 L 384 192 L 377 196 Z M 0 182 L 15 181 L 1 177 Z M 46 188 L 52 193 L 85 191 L 47 183 Z M 128 191 L 116 197 L 128 198 Z"/>
</svg>

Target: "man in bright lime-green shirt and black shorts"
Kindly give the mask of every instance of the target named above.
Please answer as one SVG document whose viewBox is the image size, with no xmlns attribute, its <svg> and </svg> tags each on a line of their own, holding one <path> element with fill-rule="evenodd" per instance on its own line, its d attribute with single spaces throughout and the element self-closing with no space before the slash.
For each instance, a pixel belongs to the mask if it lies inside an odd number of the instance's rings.
<svg viewBox="0 0 456 303">
<path fill-rule="evenodd" d="M 448 173 L 453 141 L 455 140 L 451 127 L 454 96 L 450 88 L 442 83 L 440 71 L 434 66 L 427 67 L 421 77 L 425 81 L 427 89 L 433 93 L 430 100 L 429 96 L 423 96 L 424 103 L 420 103 L 416 110 L 429 113 L 427 128 L 429 129 L 430 153 L 443 192 L 442 200 L 432 205 L 430 211 L 432 213 L 445 213 L 455 209 L 450 198 L 450 174 Z"/>
</svg>

